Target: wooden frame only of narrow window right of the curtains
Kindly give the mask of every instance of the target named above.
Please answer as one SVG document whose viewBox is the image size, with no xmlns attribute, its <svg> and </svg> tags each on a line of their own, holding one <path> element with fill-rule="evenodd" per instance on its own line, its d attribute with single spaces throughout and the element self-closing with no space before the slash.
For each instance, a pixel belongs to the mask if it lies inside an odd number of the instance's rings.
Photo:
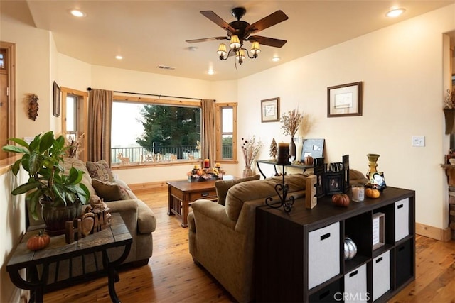
<svg viewBox="0 0 455 303">
<path fill-rule="evenodd" d="M 232 159 L 223 159 L 223 109 L 232 108 Z M 237 163 L 237 102 L 215 103 L 215 157 L 217 162 Z"/>
</svg>

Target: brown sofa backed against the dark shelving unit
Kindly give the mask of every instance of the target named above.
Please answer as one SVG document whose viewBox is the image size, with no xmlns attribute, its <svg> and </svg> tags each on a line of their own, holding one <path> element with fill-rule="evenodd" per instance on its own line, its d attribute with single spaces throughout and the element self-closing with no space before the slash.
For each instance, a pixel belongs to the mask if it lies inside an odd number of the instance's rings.
<svg viewBox="0 0 455 303">
<path fill-rule="evenodd" d="M 305 197 L 306 186 L 316 182 L 314 179 L 306 182 L 306 179 L 303 174 L 285 176 L 289 185 L 288 197 Z M 282 177 L 239 181 L 244 180 L 237 180 L 237 184 L 232 181 L 215 183 L 218 203 L 199 199 L 191 204 L 189 250 L 193 260 L 208 270 L 232 297 L 238 302 L 250 302 L 254 294 L 256 207 L 264 206 L 268 196 L 278 201 L 274 186 L 282 182 Z M 350 184 L 365 184 L 366 181 L 361 172 L 350 170 Z"/>
</svg>

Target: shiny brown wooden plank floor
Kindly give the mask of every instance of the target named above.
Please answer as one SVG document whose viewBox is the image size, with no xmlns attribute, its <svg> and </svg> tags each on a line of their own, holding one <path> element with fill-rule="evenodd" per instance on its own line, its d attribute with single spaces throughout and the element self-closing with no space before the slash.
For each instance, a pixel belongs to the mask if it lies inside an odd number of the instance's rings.
<svg viewBox="0 0 455 303">
<path fill-rule="evenodd" d="M 154 252 L 149 265 L 122 270 L 116 283 L 123 303 L 233 302 L 234 300 L 188 253 L 188 228 L 167 215 L 167 188 L 137 193 L 156 214 Z M 417 236 L 416 280 L 389 302 L 454 302 L 455 241 Z M 107 278 L 50 292 L 45 302 L 110 302 Z"/>
</svg>

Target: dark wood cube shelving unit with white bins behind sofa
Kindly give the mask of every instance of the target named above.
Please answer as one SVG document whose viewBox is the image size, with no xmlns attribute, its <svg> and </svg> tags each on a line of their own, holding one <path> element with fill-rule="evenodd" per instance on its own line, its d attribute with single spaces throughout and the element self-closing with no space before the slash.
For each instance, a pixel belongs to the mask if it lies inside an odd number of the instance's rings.
<svg viewBox="0 0 455 303">
<path fill-rule="evenodd" d="M 387 187 L 380 198 L 345 208 L 328 196 L 314 209 L 297 199 L 290 213 L 258 207 L 255 301 L 335 302 L 346 292 L 353 300 L 387 302 L 415 279 L 414 205 L 413 190 Z M 373 250 L 378 212 L 384 244 Z M 357 246 L 351 260 L 344 260 L 345 236 Z"/>
</svg>

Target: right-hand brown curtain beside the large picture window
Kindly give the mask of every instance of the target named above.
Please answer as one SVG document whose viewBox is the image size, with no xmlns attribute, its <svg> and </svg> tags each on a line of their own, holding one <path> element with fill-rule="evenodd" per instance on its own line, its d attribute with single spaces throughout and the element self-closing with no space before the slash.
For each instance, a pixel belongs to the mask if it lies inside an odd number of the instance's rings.
<svg viewBox="0 0 455 303">
<path fill-rule="evenodd" d="M 202 158 L 210 160 L 210 167 L 215 163 L 215 100 L 202 100 Z"/>
</svg>

